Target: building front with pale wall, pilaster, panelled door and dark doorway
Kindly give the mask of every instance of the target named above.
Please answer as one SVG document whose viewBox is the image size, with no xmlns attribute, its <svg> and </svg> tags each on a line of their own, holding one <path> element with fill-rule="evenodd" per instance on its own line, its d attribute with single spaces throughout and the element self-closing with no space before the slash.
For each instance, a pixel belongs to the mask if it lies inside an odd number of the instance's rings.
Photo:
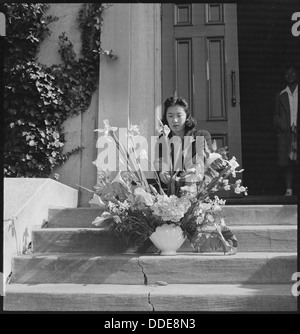
<svg viewBox="0 0 300 334">
<path fill-rule="evenodd" d="M 120 3 L 105 10 L 101 45 L 112 49 L 118 59 L 101 56 L 99 87 L 89 109 L 65 124 L 65 150 L 77 146 L 84 150 L 54 171 L 60 174 L 59 180 L 93 189 L 92 161 L 97 157 L 93 130 L 103 127 L 105 119 L 117 127 L 137 124 L 150 142 L 157 134 L 156 117 L 161 116 L 164 99 L 176 94 L 187 99 L 198 126 L 208 130 L 219 146 L 228 146 L 229 155 L 248 168 L 245 181 L 250 191 L 251 186 L 255 194 L 279 191 L 270 183 L 278 172 L 273 166 L 276 138 L 270 123 L 279 86 L 275 83 L 279 82 L 278 64 L 293 62 L 299 51 L 299 39 L 286 31 L 296 8 L 290 2 L 288 9 L 279 3 Z M 51 23 L 52 34 L 43 42 L 42 63 L 60 61 L 57 36 L 62 31 L 79 53 L 76 15 L 82 5 L 51 5 L 51 14 L 60 19 Z M 281 25 L 270 25 L 279 17 Z M 275 48 L 279 50 L 273 52 Z M 268 79 L 258 82 L 257 73 L 264 70 Z M 266 93 L 262 101 L 257 91 Z M 262 112 L 263 125 L 257 132 Z M 273 173 L 256 180 L 261 171 L 253 161 L 260 158 L 264 169 L 273 166 Z M 80 205 L 88 205 L 90 198 L 89 192 L 80 190 Z"/>
</svg>

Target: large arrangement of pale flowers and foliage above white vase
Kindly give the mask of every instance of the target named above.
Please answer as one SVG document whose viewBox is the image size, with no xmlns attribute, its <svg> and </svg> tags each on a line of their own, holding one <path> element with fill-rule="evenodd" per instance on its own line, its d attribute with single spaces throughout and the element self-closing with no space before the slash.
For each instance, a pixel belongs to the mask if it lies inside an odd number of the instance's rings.
<svg viewBox="0 0 300 334">
<path fill-rule="evenodd" d="M 93 224 L 101 226 L 104 221 L 110 221 L 114 232 L 129 245 L 137 246 L 143 244 L 158 226 L 174 224 L 182 229 L 195 250 L 208 239 L 208 235 L 216 236 L 215 246 L 221 244 L 224 251 L 228 250 L 230 245 L 221 233 L 226 230 L 221 215 L 225 200 L 215 193 L 233 189 L 235 193 L 247 195 L 241 180 L 230 182 L 231 177 L 235 178 L 243 171 L 236 170 L 239 164 L 235 157 L 228 159 L 226 148 L 217 148 L 214 141 L 211 149 L 204 146 L 201 154 L 197 153 L 196 162 L 191 159 L 182 171 L 175 170 L 174 161 L 170 162 L 170 181 L 164 189 L 156 171 L 155 184 L 150 184 L 143 172 L 141 160 L 147 159 L 147 155 L 144 150 L 137 154 L 138 127 L 128 129 L 128 147 L 125 147 L 116 136 L 117 128 L 111 127 L 108 120 L 104 124 L 104 129 L 95 131 L 103 133 L 108 141 L 113 139 L 120 163 L 126 168 L 119 172 L 105 171 L 97 160 L 93 162 L 98 169 L 98 181 L 92 202 L 104 208 Z M 160 124 L 160 138 L 166 142 L 169 131 L 166 125 Z M 153 165 L 149 160 L 147 162 Z"/>
</svg>

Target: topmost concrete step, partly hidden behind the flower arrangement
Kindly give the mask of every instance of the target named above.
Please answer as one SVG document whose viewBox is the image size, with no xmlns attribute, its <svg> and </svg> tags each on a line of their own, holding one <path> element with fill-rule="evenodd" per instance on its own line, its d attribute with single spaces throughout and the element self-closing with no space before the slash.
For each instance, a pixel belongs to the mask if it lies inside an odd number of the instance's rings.
<svg viewBox="0 0 300 334">
<path fill-rule="evenodd" d="M 297 205 L 225 205 L 223 214 L 232 225 L 296 225 Z M 104 209 L 50 209 L 47 227 L 93 227 Z"/>
</svg>

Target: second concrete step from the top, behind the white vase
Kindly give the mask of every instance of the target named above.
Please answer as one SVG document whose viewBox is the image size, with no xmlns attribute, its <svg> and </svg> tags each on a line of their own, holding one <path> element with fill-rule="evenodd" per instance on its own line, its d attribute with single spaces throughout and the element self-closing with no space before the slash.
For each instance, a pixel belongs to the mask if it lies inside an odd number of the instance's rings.
<svg viewBox="0 0 300 334">
<path fill-rule="evenodd" d="M 233 226 L 240 252 L 295 252 L 296 225 Z M 125 252 L 127 246 L 106 228 L 42 228 L 34 230 L 34 252 L 93 252 L 114 254 Z M 192 251 L 188 240 L 180 251 Z"/>
</svg>

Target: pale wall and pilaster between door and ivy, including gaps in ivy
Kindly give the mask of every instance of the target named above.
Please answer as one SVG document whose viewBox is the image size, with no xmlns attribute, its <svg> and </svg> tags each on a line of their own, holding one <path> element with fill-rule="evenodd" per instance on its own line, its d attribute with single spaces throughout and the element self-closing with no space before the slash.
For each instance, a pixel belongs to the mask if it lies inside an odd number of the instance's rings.
<svg viewBox="0 0 300 334">
<path fill-rule="evenodd" d="M 51 4 L 49 13 L 59 20 L 50 24 L 52 31 L 41 45 L 39 60 L 47 65 L 59 63 L 58 36 L 63 31 L 80 51 L 80 31 L 76 16 L 82 4 Z M 105 56 L 100 60 L 99 91 L 89 109 L 64 124 L 67 143 L 64 151 L 84 146 L 54 173 L 59 181 L 76 188 L 80 184 L 93 189 L 96 184 L 96 133 L 108 118 L 111 125 L 140 127 L 141 134 L 151 142 L 156 134 L 156 115 L 161 115 L 161 26 L 160 4 L 113 4 L 104 11 L 101 42 L 104 49 L 112 49 L 118 56 L 114 61 Z M 150 150 L 150 148 L 149 148 Z M 152 177 L 150 173 L 148 175 Z M 91 194 L 79 193 L 79 204 L 88 205 Z"/>
</svg>

